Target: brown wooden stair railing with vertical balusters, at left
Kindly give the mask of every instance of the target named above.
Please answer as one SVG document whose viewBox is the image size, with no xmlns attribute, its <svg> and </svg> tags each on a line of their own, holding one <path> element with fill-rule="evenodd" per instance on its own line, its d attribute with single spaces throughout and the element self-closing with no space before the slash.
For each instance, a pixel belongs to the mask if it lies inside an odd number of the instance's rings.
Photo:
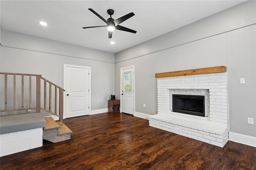
<svg viewBox="0 0 256 170">
<path fill-rule="evenodd" d="M 0 87 L 1 93 L 4 91 L 4 95 L 1 94 L 0 112 L 36 109 L 36 112 L 43 110 L 63 121 L 65 90 L 42 75 L 0 72 Z"/>
</svg>

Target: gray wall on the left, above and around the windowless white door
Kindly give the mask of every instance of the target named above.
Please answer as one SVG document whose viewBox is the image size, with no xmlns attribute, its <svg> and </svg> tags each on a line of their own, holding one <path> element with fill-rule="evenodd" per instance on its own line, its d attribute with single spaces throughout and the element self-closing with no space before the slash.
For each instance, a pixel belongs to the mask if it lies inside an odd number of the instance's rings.
<svg viewBox="0 0 256 170">
<path fill-rule="evenodd" d="M 0 71 L 41 74 L 63 87 L 63 65 L 91 67 L 91 110 L 108 108 L 114 93 L 114 54 L 16 32 L 1 32 Z"/>
</svg>

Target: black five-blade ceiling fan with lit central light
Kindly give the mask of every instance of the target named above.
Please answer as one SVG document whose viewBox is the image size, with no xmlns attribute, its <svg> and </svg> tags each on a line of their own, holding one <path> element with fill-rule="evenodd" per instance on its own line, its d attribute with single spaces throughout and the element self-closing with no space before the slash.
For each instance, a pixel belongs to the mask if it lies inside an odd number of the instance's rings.
<svg viewBox="0 0 256 170">
<path fill-rule="evenodd" d="M 129 18 L 134 16 L 135 14 L 133 12 L 114 20 L 111 17 L 114 14 L 114 10 L 109 9 L 109 10 L 107 10 L 107 13 L 108 13 L 108 15 L 110 15 L 110 18 L 108 18 L 108 20 L 105 20 L 102 16 L 100 16 L 92 8 L 89 8 L 88 10 L 90 10 L 92 13 L 94 13 L 96 16 L 98 16 L 102 21 L 106 22 L 107 25 L 106 26 L 83 27 L 83 28 L 107 27 L 108 28 L 108 38 L 112 38 L 112 32 L 114 30 L 121 30 L 121 31 L 126 31 L 126 32 L 131 32 L 131 33 L 136 34 L 136 31 L 119 25 L 122 22 L 124 22 L 125 20 L 128 20 Z"/>
</svg>

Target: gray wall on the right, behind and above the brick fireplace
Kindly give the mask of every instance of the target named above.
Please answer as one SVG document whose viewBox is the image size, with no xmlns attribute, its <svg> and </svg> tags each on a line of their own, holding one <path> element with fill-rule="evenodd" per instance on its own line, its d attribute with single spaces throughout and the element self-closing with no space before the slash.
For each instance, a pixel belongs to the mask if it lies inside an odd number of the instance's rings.
<svg viewBox="0 0 256 170">
<path fill-rule="evenodd" d="M 248 1 L 115 54 L 120 68 L 135 65 L 135 111 L 157 113 L 155 73 L 227 66 L 230 131 L 256 137 L 256 2 Z M 246 84 L 240 84 L 240 78 Z M 146 108 L 143 107 L 146 104 Z M 254 125 L 247 124 L 254 118 Z"/>
</svg>

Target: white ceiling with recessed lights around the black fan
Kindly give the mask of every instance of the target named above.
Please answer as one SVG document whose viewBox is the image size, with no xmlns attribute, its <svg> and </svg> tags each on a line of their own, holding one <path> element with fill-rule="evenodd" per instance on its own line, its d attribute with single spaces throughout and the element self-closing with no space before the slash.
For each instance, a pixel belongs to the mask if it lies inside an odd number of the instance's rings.
<svg viewBox="0 0 256 170">
<path fill-rule="evenodd" d="M 1 27 L 59 42 L 71 43 L 116 53 L 145 42 L 192 22 L 231 8 L 246 0 L 1 0 Z M 107 20 L 108 9 L 117 19 L 130 12 L 135 16 L 121 26 L 136 30 L 136 34 L 114 30 L 108 39 L 106 27 L 100 18 L 88 10 L 92 8 Z M 48 23 L 43 27 L 40 21 Z M 111 45 L 110 41 L 115 44 Z"/>
</svg>

